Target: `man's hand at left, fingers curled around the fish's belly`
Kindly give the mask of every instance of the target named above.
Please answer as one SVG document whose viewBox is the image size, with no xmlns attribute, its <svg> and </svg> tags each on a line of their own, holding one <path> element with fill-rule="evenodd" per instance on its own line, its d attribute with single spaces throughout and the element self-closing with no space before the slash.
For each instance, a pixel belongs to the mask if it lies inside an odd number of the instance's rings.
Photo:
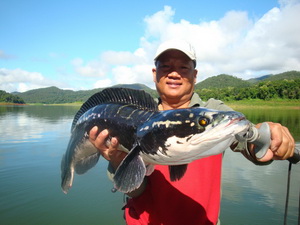
<svg viewBox="0 0 300 225">
<path fill-rule="evenodd" d="M 127 155 L 125 152 L 118 150 L 119 142 L 117 138 L 112 137 L 109 146 L 107 140 L 109 138 L 108 130 L 103 130 L 98 134 L 98 127 L 93 127 L 89 134 L 90 142 L 100 151 L 100 154 L 108 161 L 114 169 L 117 169 L 121 161 Z"/>
</svg>

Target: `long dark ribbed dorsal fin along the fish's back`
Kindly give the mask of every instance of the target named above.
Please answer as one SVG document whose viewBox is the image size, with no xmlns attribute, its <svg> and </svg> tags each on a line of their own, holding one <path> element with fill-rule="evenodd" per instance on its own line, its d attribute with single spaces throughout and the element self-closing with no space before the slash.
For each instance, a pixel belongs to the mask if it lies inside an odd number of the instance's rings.
<svg viewBox="0 0 300 225">
<path fill-rule="evenodd" d="M 150 94 L 143 90 L 106 88 L 92 95 L 85 103 L 83 103 L 73 119 L 72 130 L 82 114 L 97 105 L 105 103 L 132 104 L 139 109 L 158 111 L 157 103 Z"/>
</svg>

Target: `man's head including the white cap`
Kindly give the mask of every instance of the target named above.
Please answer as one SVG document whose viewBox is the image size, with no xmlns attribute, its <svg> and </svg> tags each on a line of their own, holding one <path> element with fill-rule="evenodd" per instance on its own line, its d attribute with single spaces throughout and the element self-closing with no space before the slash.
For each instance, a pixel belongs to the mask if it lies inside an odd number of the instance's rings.
<svg viewBox="0 0 300 225">
<path fill-rule="evenodd" d="M 153 80 L 162 102 L 171 108 L 187 107 L 197 78 L 194 48 L 184 41 L 164 42 L 154 60 Z"/>
</svg>

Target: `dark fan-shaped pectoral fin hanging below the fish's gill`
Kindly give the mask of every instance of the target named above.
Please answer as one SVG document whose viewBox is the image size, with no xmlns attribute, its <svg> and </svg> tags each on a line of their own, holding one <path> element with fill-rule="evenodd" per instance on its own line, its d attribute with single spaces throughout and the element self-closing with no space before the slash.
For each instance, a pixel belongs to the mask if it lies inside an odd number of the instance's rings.
<svg viewBox="0 0 300 225">
<path fill-rule="evenodd" d="M 139 152 L 139 145 L 133 147 L 115 173 L 115 188 L 121 192 L 128 193 L 137 189 L 144 180 L 146 167 Z"/>
</svg>

